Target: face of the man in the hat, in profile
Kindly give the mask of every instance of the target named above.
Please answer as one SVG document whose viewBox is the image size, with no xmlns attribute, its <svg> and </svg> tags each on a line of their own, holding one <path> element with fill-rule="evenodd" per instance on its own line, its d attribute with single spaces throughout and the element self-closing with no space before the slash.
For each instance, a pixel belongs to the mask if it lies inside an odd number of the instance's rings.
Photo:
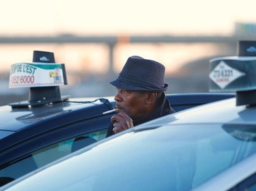
<svg viewBox="0 0 256 191">
<path fill-rule="evenodd" d="M 145 114 L 145 103 L 147 100 L 147 92 L 124 90 L 117 88 L 115 101 L 117 108 L 124 111 L 132 120 L 141 118 Z"/>
</svg>

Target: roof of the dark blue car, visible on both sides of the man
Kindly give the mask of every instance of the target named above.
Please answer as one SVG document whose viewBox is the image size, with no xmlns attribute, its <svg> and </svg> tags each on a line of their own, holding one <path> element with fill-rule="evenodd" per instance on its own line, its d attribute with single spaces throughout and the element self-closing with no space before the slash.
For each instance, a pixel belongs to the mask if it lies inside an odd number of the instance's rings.
<svg viewBox="0 0 256 191">
<path fill-rule="evenodd" d="M 171 105 L 175 105 L 175 110 L 180 111 L 184 107 L 193 107 L 220 99 L 234 97 L 234 94 L 218 94 L 218 93 L 194 93 L 194 94 L 168 94 Z M 103 100 L 103 101 L 102 101 Z M 113 104 L 114 97 L 104 97 L 104 99 L 97 98 L 76 98 L 68 99 L 53 104 L 39 105 L 36 107 L 12 107 L 11 105 L 4 105 L 0 107 L 0 131 L 12 133 L 22 128 L 35 125 L 43 120 L 50 118 L 57 118 L 57 116 L 65 116 L 68 113 L 76 112 L 81 109 L 94 108 L 96 105 L 103 105 L 104 101 L 109 101 Z M 111 105 L 106 105 L 112 107 Z M 112 109 L 112 108 L 109 108 Z M 108 110 L 106 107 L 105 110 Z M 99 114 L 100 111 L 98 112 Z M 88 112 L 84 118 L 91 116 Z M 0 133 L 0 138 L 2 135 Z"/>
</svg>

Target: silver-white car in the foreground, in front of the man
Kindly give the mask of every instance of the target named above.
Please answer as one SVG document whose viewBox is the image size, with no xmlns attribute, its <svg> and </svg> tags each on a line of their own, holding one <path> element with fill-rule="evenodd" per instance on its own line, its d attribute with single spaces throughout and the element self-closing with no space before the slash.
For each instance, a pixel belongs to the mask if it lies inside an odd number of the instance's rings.
<svg viewBox="0 0 256 191">
<path fill-rule="evenodd" d="M 236 106 L 235 98 L 180 111 L 89 145 L 2 188 L 250 188 L 251 179 L 256 186 L 255 116 L 256 107 Z"/>
</svg>

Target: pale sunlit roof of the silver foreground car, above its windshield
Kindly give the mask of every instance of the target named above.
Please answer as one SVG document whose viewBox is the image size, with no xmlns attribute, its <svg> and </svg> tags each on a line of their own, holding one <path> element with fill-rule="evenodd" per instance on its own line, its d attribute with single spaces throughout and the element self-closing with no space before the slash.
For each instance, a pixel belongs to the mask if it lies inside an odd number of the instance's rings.
<svg viewBox="0 0 256 191">
<path fill-rule="evenodd" d="M 163 116 L 136 128 L 162 124 L 256 124 L 255 114 L 256 107 L 237 106 L 236 98 L 231 98 Z"/>
</svg>

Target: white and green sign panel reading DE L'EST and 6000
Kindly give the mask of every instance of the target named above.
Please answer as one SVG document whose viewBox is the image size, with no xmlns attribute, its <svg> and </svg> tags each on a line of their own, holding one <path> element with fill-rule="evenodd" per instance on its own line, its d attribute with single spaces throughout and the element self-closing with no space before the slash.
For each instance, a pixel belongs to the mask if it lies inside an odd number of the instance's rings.
<svg viewBox="0 0 256 191">
<path fill-rule="evenodd" d="M 10 70 L 10 88 L 61 86 L 66 84 L 65 66 L 57 63 L 16 63 Z"/>
</svg>

